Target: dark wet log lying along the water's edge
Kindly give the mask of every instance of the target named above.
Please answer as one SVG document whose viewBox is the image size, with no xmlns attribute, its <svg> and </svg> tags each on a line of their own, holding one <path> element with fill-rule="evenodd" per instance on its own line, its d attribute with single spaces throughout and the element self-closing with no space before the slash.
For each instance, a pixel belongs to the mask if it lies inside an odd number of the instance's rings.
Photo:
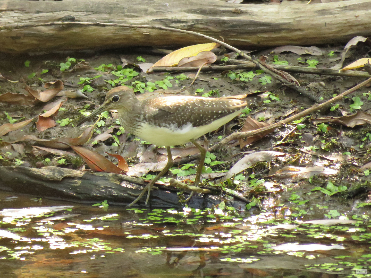
<svg viewBox="0 0 371 278">
<path fill-rule="evenodd" d="M 136 196 L 129 192 L 140 193 L 145 182 L 130 182 L 133 178 L 112 173 L 76 171 L 55 166 L 40 169 L 23 166 L 0 166 L 0 190 L 29 194 L 49 199 L 66 200 L 80 203 L 97 203 L 107 200 L 113 205 L 128 205 Z M 159 186 L 152 190 L 147 207 L 177 208 L 178 190 Z M 189 194 L 184 194 L 185 198 Z M 190 208 L 210 208 L 221 202 L 215 194 L 194 195 L 187 203 Z M 137 205 L 145 206 L 144 200 Z M 231 205 L 241 209 L 245 203 L 232 201 Z"/>
</svg>

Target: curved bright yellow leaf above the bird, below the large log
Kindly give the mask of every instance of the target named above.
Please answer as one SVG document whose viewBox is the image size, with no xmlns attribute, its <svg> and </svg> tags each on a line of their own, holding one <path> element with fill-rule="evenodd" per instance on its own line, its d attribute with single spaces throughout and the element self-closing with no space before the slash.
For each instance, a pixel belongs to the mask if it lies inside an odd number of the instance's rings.
<svg viewBox="0 0 371 278">
<path fill-rule="evenodd" d="M 181 49 L 175 50 L 175 51 L 171 52 L 170 54 L 167 54 L 165 57 L 162 57 L 160 60 L 158 60 L 156 63 L 154 63 L 152 67 L 157 67 L 157 66 L 172 67 L 172 66 L 176 66 L 178 64 L 178 62 L 185 57 L 196 56 L 198 53 L 200 53 L 202 51 L 209 51 L 209 50 L 214 49 L 215 47 L 218 47 L 218 46 L 220 46 L 219 43 L 202 43 L 202 44 L 195 44 L 195 45 L 186 46 L 186 47 L 183 47 Z M 148 70 L 148 72 L 151 72 L 151 68 Z"/>
</svg>

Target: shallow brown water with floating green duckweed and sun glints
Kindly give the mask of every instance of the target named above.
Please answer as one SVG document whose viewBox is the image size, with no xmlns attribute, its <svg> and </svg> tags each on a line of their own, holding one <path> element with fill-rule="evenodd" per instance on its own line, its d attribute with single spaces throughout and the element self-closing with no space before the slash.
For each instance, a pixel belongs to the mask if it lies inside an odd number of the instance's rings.
<svg viewBox="0 0 371 278">
<path fill-rule="evenodd" d="M 125 210 L 9 193 L 0 193 L 0 209 L 0 273 L 7 278 L 371 276 L 356 274 L 371 272 L 371 225 L 362 219 L 272 229 L 296 223 L 258 209 Z M 287 243 L 299 244 L 275 247 Z"/>
</svg>

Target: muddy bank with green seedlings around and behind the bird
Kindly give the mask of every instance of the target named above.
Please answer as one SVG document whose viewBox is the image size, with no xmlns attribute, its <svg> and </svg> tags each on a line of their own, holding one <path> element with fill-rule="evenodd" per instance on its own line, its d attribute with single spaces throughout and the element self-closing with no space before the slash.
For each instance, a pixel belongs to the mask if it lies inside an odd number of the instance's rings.
<svg viewBox="0 0 371 278">
<path fill-rule="evenodd" d="M 298 54 L 291 52 L 283 52 L 278 54 L 278 59 L 274 59 L 277 55 L 272 53 L 272 49 L 256 50 L 251 54 L 257 59 L 261 55 L 268 57 L 267 62 L 274 63 L 279 61 L 287 61 L 289 65 L 293 66 L 308 66 L 307 60 L 316 60 L 318 68 L 330 68 L 334 66 L 340 57 L 340 52 L 344 45 L 327 45 L 319 46 L 323 51 L 322 56 L 312 56 Z M 220 53 L 219 58 L 223 57 L 225 53 Z M 330 54 L 330 55 L 329 55 Z M 332 55 L 331 55 L 332 54 Z M 370 47 L 364 43 L 358 43 L 349 51 L 349 57 L 345 59 L 344 65 L 349 64 L 359 58 L 370 57 Z M 124 56 L 128 62 L 142 63 L 140 58 L 145 59 L 145 62 L 155 63 L 162 56 L 161 54 L 154 54 L 150 48 L 140 49 L 115 49 L 102 50 L 98 52 L 73 52 L 73 53 L 53 53 L 43 55 L 23 55 L 23 56 L 0 56 L 0 72 L 6 79 L 17 81 L 12 83 L 6 80 L 0 80 L 0 93 L 13 92 L 27 94 L 24 90 L 26 85 L 33 89 L 45 90 L 43 84 L 56 80 L 62 80 L 65 90 L 75 92 L 82 90 L 85 85 L 90 85 L 92 92 L 83 92 L 86 98 L 68 98 L 63 104 L 62 109 L 59 110 L 55 117 L 57 125 L 53 128 L 46 129 L 43 132 L 36 130 L 35 122 L 26 127 L 8 133 L 1 137 L 0 141 L 0 165 L 22 165 L 27 167 L 40 168 L 46 165 L 67 167 L 72 169 L 85 169 L 85 163 L 79 156 L 70 155 L 55 155 L 33 148 L 35 141 L 29 142 L 14 142 L 23 135 L 33 134 L 38 138 L 54 139 L 60 137 L 75 138 L 81 134 L 86 125 L 76 127 L 76 123 L 84 117 L 85 112 L 91 112 L 102 104 L 106 92 L 112 88 L 112 85 L 105 80 L 115 80 L 117 76 L 111 72 L 114 67 L 122 64 L 121 57 Z M 64 72 L 60 70 L 60 63 L 66 63 L 68 58 L 72 60 L 71 66 Z M 79 60 L 83 59 L 92 68 L 75 69 L 69 71 Z M 139 60 L 138 60 L 139 59 Z M 29 61 L 29 62 L 26 62 Z M 26 64 L 25 64 L 26 62 Z M 304 62 L 304 63 L 301 63 Z M 102 64 L 103 71 L 96 70 Z M 228 61 L 226 61 L 228 64 Z M 26 66 L 28 65 L 28 66 Z M 139 82 L 152 82 L 167 79 L 172 87 L 168 89 L 178 90 L 183 86 L 188 86 L 195 73 L 184 73 L 191 78 L 186 78 L 180 73 L 155 73 L 146 74 L 137 67 L 127 65 L 125 68 L 133 68 L 138 75 L 131 80 L 123 83 L 123 85 L 135 87 Z M 43 70 L 48 70 L 42 73 Z M 256 69 L 247 70 L 247 72 L 255 72 Z M 242 72 L 242 70 L 235 71 Z M 35 76 L 33 76 L 35 73 Z M 256 72 L 255 72 L 256 73 Z M 91 83 L 85 82 L 78 84 L 81 77 L 93 78 L 101 75 L 98 78 L 90 80 Z M 303 109 L 310 107 L 313 103 L 306 97 L 298 95 L 293 90 L 288 90 L 280 83 L 272 80 L 271 83 L 264 84 L 259 82 L 259 79 L 266 74 L 257 75 L 250 81 L 241 81 L 237 79 L 232 80 L 230 73 L 223 72 L 208 72 L 200 73 L 196 82 L 188 89 L 191 95 L 204 95 L 209 93 L 210 96 L 224 96 L 224 95 L 238 95 L 245 92 L 254 92 L 255 90 L 269 91 L 279 98 L 270 97 L 269 103 L 259 103 L 250 107 L 252 110 L 249 114 L 252 118 L 266 123 L 275 123 L 281 119 L 285 119 L 292 113 L 298 113 Z M 363 78 L 357 77 L 339 77 L 339 76 L 319 76 L 301 73 L 292 73 L 292 75 L 305 86 L 309 92 L 316 96 L 327 100 L 334 94 L 339 94 L 364 81 Z M 112 83 L 112 82 L 111 82 Z M 118 83 L 121 84 L 121 83 Z M 140 83 L 139 83 L 140 84 Z M 155 86 L 156 89 L 161 89 L 160 86 Z M 213 91 L 214 90 L 214 91 Z M 200 92 L 202 91 L 202 92 Z M 144 89 L 144 92 L 148 90 Z M 140 92 L 137 92 L 140 94 Z M 364 95 L 366 93 L 366 95 Z M 346 126 L 329 124 L 328 126 L 315 125 L 312 120 L 324 116 L 342 116 L 355 113 L 358 110 L 368 112 L 371 109 L 371 104 L 368 101 L 370 93 L 369 87 L 363 87 L 357 92 L 353 93 L 342 102 L 339 102 L 339 107 L 334 111 L 330 109 L 318 111 L 315 114 L 309 115 L 300 123 L 300 127 L 296 124 L 286 125 L 282 128 L 276 129 L 275 132 L 265 136 L 261 140 L 245 146 L 240 149 L 236 142 L 231 142 L 228 146 L 214 152 L 216 158 L 214 161 L 222 161 L 223 164 L 209 166 L 212 171 L 229 170 L 234 163 L 241 159 L 246 153 L 273 150 L 286 154 L 283 158 L 275 158 L 272 162 L 260 162 L 252 168 L 247 169 L 229 183 L 229 189 L 236 190 L 241 193 L 244 198 L 247 198 L 252 205 L 256 205 L 255 209 L 274 211 L 277 216 L 292 215 L 294 217 L 302 218 L 305 215 L 311 215 L 313 218 L 338 218 L 338 216 L 355 215 L 355 218 L 362 217 L 364 212 L 367 212 L 368 202 L 370 202 L 370 176 L 368 171 L 360 171 L 360 166 L 370 161 L 370 140 L 371 135 L 367 134 L 371 131 L 369 124 L 357 125 L 354 128 Z M 272 96 L 273 96 L 272 95 Z M 363 105 L 361 109 L 355 109 L 351 112 L 349 105 L 354 101 L 352 97 L 359 96 Z M 58 97 L 56 97 L 58 98 Z M 49 101 L 53 102 L 56 98 Z M 24 119 L 33 118 L 43 112 L 45 103 L 38 102 L 35 105 L 9 105 L 0 103 L 0 125 L 9 123 L 9 118 L 17 119 L 20 122 Z M 6 115 L 6 113 L 8 115 Z M 290 113 L 292 112 L 292 113 Z M 68 119 L 68 120 L 66 120 Z M 95 133 L 92 139 L 84 145 L 85 148 L 93 149 L 96 152 L 106 155 L 105 152 L 115 153 L 119 152 L 127 160 L 129 166 L 134 166 L 139 162 L 155 163 L 164 160 L 164 156 L 157 152 L 154 146 L 147 145 L 135 136 L 126 133 L 120 134 L 119 126 L 116 120 L 109 115 L 108 118 L 103 119 L 104 123 L 101 126 L 95 127 Z M 226 128 L 220 129 L 216 133 L 207 135 L 211 145 L 219 142 L 233 131 L 241 129 L 246 116 L 234 119 L 231 123 L 226 125 Z M 58 123 L 58 121 L 61 121 Z M 61 126 L 61 123 L 67 123 Z M 89 122 L 88 122 L 89 123 Z M 304 126 L 305 125 L 305 126 Z M 95 141 L 98 133 L 104 133 L 106 130 L 114 126 L 110 138 L 104 141 Z M 301 128 L 301 129 L 300 129 Z M 290 132 L 292 131 L 292 132 Z M 119 134 L 117 134 L 119 132 Z M 283 142 L 282 142 L 282 141 Z M 93 142 L 93 144 L 92 144 Z M 119 145 L 118 145 L 119 144 Z M 188 146 L 188 145 L 187 145 Z M 186 147 L 187 147 L 186 146 Z M 72 152 L 71 150 L 67 150 Z M 111 157 L 107 158 L 113 160 Z M 181 169 L 184 165 L 175 167 Z M 298 171 L 296 168 L 287 169 L 288 175 L 277 175 L 279 169 L 284 166 L 303 167 L 320 166 L 325 169 L 334 170 L 331 175 L 326 174 L 326 171 L 316 172 L 316 175 L 309 173 L 295 174 Z M 86 166 L 86 168 L 88 168 Z M 174 169 L 175 169 L 174 168 Z M 193 169 L 191 166 L 190 169 Z M 210 171 L 211 171 L 210 170 Z M 309 170 L 311 172 L 312 170 Z M 153 172 L 149 172 L 143 178 L 150 179 Z M 276 174 L 273 175 L 272 174 Z M 314 174 L 314 172 L 313 172 Z M 319 175 L 317 175 L 319 174 Z M 250 176 L 255 175 L 255 176 Z M 168 172 L 168 177 L 175 176 Z M 179 179 L 183 179 L 178 175 Z M 211 183 L 214 181 L 211 179 Z M 215 182 L 217 184 L 217 182 Z M 334 188 L 333 186 L 337 186 Z M 228 187 L 227 186 L 227 187 Z M 344 188 L 346 187 L 346 189 Z M 325 190 L 330 190 L 333 194 L 325 193 Z M 340 188 L 342 188 L 340 190 Z M 315 190 L 317 189 L 317 190 Z M 307 201 L 308 200 L 308 201 Z M 226 198 L 226 202 L 228 198 Z M 306 202 L 304 202 L 306 201 Z M 253 206 L 254 207 L 254 206 Z M 247 206 L 249 208 L 249 206 Z M 365 216 L 367 218 L 367 216 Z"/>
</svg>

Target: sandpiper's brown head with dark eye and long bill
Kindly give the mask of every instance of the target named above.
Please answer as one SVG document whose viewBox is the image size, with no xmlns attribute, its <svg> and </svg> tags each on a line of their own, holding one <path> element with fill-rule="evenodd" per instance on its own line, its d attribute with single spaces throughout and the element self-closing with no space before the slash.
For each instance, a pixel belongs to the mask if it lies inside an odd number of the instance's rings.
<svg viewBox="0 0 371 278">
<path fill-rule="evenodd" d="M 131 110 L 138 103 L 139 100 L 131 88 L 127 86 L 115 87 L 108 91 L 103 104 L 95 109 L 89 116 L 81 120 L 77 125 L 81 125 L 87 120 L 95 117 L 95 115 L 99 115 L 104 111 L 117 110 L 120 112 L 124 110 Z"/>
</svg>

